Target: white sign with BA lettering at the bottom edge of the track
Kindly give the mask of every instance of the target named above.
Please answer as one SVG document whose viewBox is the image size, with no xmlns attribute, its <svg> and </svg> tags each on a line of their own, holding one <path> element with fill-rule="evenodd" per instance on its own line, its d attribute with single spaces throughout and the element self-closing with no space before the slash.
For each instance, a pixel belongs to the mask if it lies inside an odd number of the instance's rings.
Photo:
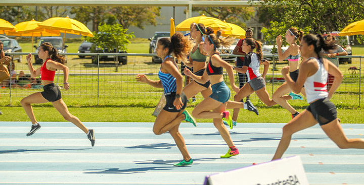
<svg viewBox="0 0 364 185">
<path fill-rule="evenodd" d="M 309 185 L 299 156 L 208 175 L 204 184 Z"/>
</svg>

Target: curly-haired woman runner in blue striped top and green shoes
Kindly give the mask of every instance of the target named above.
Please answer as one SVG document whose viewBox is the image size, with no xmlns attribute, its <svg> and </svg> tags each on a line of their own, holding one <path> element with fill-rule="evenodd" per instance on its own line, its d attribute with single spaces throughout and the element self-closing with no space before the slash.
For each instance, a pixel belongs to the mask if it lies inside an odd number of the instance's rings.
<svg viewBox="0 0 364 185">
<path fill-rule="evenodd" d="M 182 92 L 183 76 L 179 73 L 177 64 L 170 54 L 174 54 L 181 61 L 186 59 L 186 55 L 191 49 L 192 43 L 190 38 L 185 37 L 181 33 L 175 33 L 171 38 L 162 38 L 158 41 L 156 48 L 157 56 L 164 58 L 158 72 L 160 80 L 150 80 L 144 74 L 136 76 L 136 81 L 164 89 L 166 105 L 154 121 L 153 132 L 156 135 L 161 135 L 169 131 L 169 134 L 173 137 L 184 158 L 179 163 L 174 164 L 174 166 L 186 166 L 193 163 L 187 151 L 185 140 L 178 132 L 178 128 L 183 120 L 191 122 L 196 127 L 196 120 L 185 110 L 187 98 Z"/>
</svg>

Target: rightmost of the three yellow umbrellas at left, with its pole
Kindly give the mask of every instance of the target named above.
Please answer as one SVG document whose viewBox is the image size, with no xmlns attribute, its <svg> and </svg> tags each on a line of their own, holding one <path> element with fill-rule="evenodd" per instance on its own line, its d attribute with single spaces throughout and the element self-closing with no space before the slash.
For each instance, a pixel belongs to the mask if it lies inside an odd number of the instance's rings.
<svg viewBox="0 0 364 185">
<path fill-rule="evenodd" d="M 47 19 L 41 22 L 39 24 L 39 27 L 50 30 L 59 30 L 61 31 L 61 33 L 64 33 L 62 48 L 64 47 L 64 39 L 66 38 L 66 33 L 94 37 L 94 34 L 84 24 L 77 20 L 70 19 L 68 16 L 53 17 Z"/>
</svg>

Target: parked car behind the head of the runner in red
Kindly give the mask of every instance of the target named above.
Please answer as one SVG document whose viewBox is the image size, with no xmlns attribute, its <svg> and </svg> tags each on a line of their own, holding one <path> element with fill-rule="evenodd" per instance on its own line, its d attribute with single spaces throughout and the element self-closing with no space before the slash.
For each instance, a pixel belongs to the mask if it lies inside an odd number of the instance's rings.
<svg viewBox="0 0 364 185">
<path fill-rule="evenodd" d="M 62 45 L 63 45 L 63 38 L 62 37 L 40 37 L 38 46 L 34 46 L 35 47 L 35 52 L 38 52 L 39 46 L 44 42 L 51 43 L 53 45 L 53 47 L 55 47 L 58 50 L 58 53 L 60 53 L 60 54 L 67 53 L 66 48 L 68 47 L 68 45 L 64 45 L 64 47 L 62 48 Z M 66 57 L 66 61 L 67 61 L 67 56 L 65 56 L 65 57 Z M 35 64 L 42 64 L 43 63 L 43 60 L 40 59 L 38 57 L 38 55 L 34 55 L 34 61 L 35 61 Z"/>
</svg>

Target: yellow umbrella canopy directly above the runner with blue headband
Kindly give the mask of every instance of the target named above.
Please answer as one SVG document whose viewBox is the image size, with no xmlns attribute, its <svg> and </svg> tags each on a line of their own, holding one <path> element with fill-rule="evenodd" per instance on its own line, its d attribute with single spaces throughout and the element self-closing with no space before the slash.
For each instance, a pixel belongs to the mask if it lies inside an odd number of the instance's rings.
<svg viewBox="0 0 364 185">
<path fill-rule="evenodd" d="M 212 27 L 214 30 L 231 29 L 230 26 L 219 19 L 213 17 L 206 17 L 205 15 L 198 17 L 191 17 L 179 23 L 176 27 L 176 31 L 190 31 L 191 23 L 202 23 L 205 27 Z"/>
</svg>

